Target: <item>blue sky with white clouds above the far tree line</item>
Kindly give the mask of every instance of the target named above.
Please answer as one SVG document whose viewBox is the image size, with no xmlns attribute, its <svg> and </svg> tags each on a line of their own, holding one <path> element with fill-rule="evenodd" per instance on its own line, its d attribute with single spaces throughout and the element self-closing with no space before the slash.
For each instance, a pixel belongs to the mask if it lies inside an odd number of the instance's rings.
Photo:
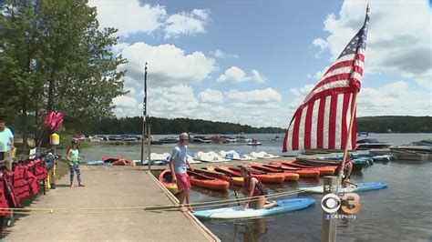
<svg viewBox="0 0 432 242">
<path fill-rule="evenodd" d="M 117 116 L 286 127 L 371 6 L 357 116 L 431 115 L 428 1 L 90 1 L 129 60 Z"/>
</svg>

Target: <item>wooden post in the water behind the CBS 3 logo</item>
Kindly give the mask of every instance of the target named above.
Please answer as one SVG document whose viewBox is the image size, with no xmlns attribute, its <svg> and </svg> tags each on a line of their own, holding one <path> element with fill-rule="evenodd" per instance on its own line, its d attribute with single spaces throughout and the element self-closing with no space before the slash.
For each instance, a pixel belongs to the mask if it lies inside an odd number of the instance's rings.
<svg viewBox="0 0 432 242">
<path fill-rule="evenodd" d="M 334 193 L 338 186 L 338 176 L 324 176 L 324 196 Z M 329 189 L 326 189 L 328 186 Z M 336 193 L 337 196 L 337 193 Z M 330 242 L 336 241 L 336 218 L 332 215 L 337 214 L 337 211 L 329 214 L 323 210 L 323 222 L 321 224 L 321 241 Z"/>
</svg>

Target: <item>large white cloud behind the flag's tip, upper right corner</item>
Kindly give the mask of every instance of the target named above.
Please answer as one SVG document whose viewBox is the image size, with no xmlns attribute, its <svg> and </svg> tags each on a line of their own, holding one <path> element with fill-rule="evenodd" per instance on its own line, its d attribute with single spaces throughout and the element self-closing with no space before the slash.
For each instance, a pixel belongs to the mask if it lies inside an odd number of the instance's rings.
<svg viewBox="0 0 432 242">
<path fill-rule="evenodd" d="M 345 1 L 339 15 L 328 15 L 324 21 L 325 39 L 313 45 L 318 54 L 329 50 L 334 60 L 349 39 L 363 24 L 366 0 Z M 430 9 L 427 1 L 375 1 L 371 5 L 365 72 L 396 74 L 414 78 L 417 84 L 430 88 L 432 45 L 430 45 Z M 413 17 L 415 16 L 415 17 Z"/>
</svg>

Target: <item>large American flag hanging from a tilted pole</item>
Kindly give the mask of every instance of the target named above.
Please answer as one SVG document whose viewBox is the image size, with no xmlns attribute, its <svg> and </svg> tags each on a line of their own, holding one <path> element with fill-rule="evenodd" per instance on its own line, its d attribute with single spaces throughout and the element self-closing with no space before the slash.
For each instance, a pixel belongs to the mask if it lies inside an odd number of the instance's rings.
<svg viewBox="0 0 432 242">
<path fill-rule="evenodd" d="M 365 61 L 369 8 L 365 23 L 295 111 L 283 139 L 283 152 L 344 149 L 351 106 L 360 90 Z M 355 118 L 355 106 L 354 106 Z M 348 149 L 355 147 L 355 120 Z"/>
</svg>

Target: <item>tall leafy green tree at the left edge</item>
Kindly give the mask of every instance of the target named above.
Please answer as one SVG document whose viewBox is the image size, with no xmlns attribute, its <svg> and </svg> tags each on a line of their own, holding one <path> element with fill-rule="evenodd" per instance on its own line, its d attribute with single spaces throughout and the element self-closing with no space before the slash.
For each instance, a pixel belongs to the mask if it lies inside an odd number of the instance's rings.
<svg viewBox="0 0 432 242">
<path fill-rule="evenodd" d="M 40 126 L 39 116 L 50 110 L 63 112 L 76 130 L 112 116 L 112 99 L 124 94 L 118 66 L 126 60 L 110 51 L 117 30 L 99 29 L 96 8 L 85 0 L 0 6 L 0 99 L 5 114 L 21 114 L 21 131 L 30 116 Z"/>
</svg>

